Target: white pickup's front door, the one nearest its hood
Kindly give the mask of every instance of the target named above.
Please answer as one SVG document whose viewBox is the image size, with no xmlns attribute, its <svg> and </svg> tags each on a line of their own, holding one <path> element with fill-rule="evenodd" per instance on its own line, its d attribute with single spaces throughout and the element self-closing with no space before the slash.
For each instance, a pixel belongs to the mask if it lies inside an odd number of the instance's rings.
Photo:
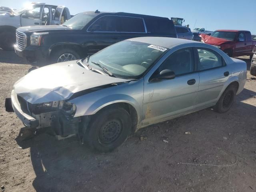
<svg viewBox="0 0 256 192">
<path fill-rule="evenodd" d="M 35 5 L 32 9 L 22 13 L 20 22 L 21 26 L 42 25 L 42 12 L 44 5 Z"/>
</svg>

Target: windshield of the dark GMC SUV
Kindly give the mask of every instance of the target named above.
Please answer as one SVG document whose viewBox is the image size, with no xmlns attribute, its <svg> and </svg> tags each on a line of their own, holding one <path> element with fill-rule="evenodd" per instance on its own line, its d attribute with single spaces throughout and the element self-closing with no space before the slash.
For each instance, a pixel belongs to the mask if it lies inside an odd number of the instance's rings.
<svg viewBox="0 0 256 192">
<path fill-rule="evenodd" d="M 72 29 L 82 29 L 94 17 L 96 17 L 96 14 L 79 13 L 64 22 L 63 25 L 69 26 Z"/>
</svg>

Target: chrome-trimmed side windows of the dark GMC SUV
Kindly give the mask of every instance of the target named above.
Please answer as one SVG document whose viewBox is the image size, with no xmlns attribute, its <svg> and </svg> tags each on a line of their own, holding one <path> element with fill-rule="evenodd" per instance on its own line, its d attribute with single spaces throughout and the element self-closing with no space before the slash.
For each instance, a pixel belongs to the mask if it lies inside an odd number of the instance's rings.
<svg viewBox="0 0 256 192">
<path fill-rule="evenodd" d="M 128 16 L 103 16 L 96 20 L 89 30 L 95 32 L 146 32 L 142 18 Z"/>
</svg>

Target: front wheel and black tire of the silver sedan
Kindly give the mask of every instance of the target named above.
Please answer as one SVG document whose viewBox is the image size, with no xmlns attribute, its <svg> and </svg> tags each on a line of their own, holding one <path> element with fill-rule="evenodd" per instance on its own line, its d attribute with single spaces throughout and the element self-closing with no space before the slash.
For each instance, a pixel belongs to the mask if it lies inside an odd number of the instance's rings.
<svg viewBox="0 0 256 192">
<path fill-rule="evenodd" d="M 99 152 L 110 152 L 127 139 L 131 127 L 131 118 L 126 110 L 110 107 L 94 115 L 84 138 L 90 148 Z"/>
</svg>

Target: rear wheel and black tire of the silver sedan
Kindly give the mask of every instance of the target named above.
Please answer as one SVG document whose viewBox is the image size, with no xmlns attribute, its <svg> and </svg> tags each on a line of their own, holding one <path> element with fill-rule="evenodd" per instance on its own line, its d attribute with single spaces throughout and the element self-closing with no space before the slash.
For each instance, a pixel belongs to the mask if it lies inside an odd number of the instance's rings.
<svg viewBox="0 0 256 192">
<path fill-rule="evenodd" d="M 228 86 L 226 90 L 222 93 L 222 96 L 220 97 L 216 105 L 214 106 L 214 111 L 218 113 L 227 112 L 234 103 L 236 91 L 237 88 L 235 86 Z"/>
</svg>

